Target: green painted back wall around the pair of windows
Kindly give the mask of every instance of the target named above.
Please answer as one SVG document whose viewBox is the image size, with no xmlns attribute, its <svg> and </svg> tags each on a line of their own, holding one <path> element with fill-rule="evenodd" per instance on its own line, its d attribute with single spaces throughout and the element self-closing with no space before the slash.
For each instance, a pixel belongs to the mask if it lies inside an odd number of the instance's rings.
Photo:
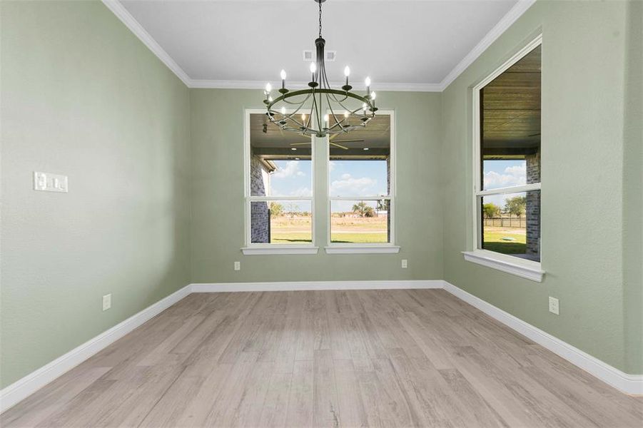
<svg viewBox="0 0 643 428">
<path fill-rule="evenodd" d="M 327 255 L 324 147 L 315 147 L 318 255 L 248 255 L 244 243 L 243 109 L 260 108 L 262 91 L 192 89 L 192 280 L 442 279 L 440 94 L 378 92 L 396 113 L 399 254 Z M 400 260 L 408 260 L 408 268 Z M 241 261 L 241 271 L 233 262 Z"/>
</svg>

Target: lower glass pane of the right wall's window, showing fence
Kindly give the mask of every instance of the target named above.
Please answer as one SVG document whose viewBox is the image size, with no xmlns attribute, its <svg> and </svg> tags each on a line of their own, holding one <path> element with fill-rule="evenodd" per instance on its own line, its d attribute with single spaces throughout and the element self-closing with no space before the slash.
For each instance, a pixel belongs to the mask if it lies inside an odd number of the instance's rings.
<svg viewBox="0 0 643 428">
<path fill-rule="evenodd" d="M 480 200 L 481 248 L 540 262 L 540 190 Z"/>
</svg>

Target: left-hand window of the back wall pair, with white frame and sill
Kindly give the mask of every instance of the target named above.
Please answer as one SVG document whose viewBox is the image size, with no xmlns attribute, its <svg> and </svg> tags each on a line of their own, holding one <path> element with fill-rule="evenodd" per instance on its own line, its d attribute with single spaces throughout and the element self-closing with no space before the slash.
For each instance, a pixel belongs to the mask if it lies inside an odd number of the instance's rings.
<svg viewBox="0 0 643 428">
<path fill-rule="evenodd" d="M 262 110 L 246 111 L 245 122 L 243 253 L 316 253 L 313 139 L 270 126 Z"/>
</svg>

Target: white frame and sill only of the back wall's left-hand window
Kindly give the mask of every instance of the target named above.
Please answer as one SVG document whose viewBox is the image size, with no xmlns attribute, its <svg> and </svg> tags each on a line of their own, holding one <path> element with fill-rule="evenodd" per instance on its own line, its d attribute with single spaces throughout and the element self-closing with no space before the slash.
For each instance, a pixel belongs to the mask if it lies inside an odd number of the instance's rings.
<svg viewBox="0 0 643 428">
<path fill-rule="evenodd" d="M 294 110 L 288 110 L 293 113 Z M 245 247 L 241 248 L 244 255 L 265 254 L 317 254 L 318 247 L 315 239 L 315 138 L 310 138 L 310 196 L 258 196 L 252 195 L 250 190 L 250 116 L 265 114 L 265 108 L 244 108 L 243 111 L 243 196 L 244 196 L 244 229 Z M 303 137 L 304 138 L 304 137 Z M 252 243 L 250 205 L 253 202 L 270 202 L 273 200 L 310 202 L 311 237 L 310 244 L 277 244 L 277 243 Z"/>
</svg>

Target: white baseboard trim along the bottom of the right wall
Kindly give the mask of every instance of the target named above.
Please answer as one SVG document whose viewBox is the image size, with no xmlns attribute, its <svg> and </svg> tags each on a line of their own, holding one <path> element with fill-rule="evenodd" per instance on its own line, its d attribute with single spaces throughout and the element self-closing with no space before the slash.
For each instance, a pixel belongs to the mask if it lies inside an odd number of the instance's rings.
<svg viewBox="0 0 643 428">
<path fill-rule="evenodd" d="M 560 355 L 560 357 L 571 362 L 573 365 L 580 367 L 589 374 L 592 374 L 592 376 L 601 379 L 603 382 L 612 385 L 612 387 L 619 389 L 626 394 L 643 394 L 643 374 L 624 373 L 621 370 L 608 365 L 606 362 L 602 362 L 596 357 L 592 357 L 592 355 L 587 354 L 587 352 L 583 352 L 577 347 L 569 345 L 567 342 L 563 342 L 557 337 L 520 320 L 520 318 L 485 302 L 485 300 L 480 299 L 480 297 L 475 297 L 475 295 L 472 295 L 449 282 L 444 281 L 443 288 L 452 295 L 455 295 L 455 297 L 458 297 L 460 300 L 464 300 L 473 307 L 485 312 L 485 314 L 495 320 L 502 322 L 502 324 L 507 325 L 507 327 L 510 327 L 513 330 L 516 330 L 521 335 L 536 342 L 538 345 Z"/>
</svg>

